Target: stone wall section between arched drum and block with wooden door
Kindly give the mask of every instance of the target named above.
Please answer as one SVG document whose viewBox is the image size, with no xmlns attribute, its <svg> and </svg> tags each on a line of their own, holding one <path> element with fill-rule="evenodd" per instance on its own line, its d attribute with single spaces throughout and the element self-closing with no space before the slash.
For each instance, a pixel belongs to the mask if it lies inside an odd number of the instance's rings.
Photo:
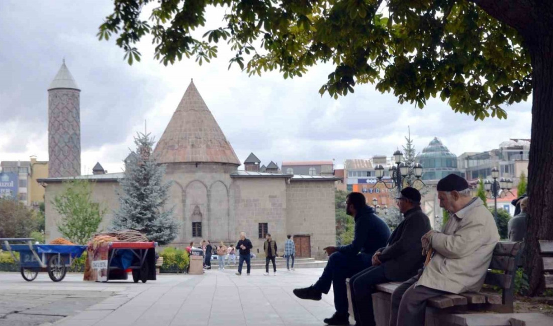
<svg viewBox="0 0 553 326">
<path fill-rule="evenodd" d="M 278 245 L 279 255 L 284 253 L 286 240 L 286 179 L 285 178 L 234 178 L 231 186 L 236 222 L 234 240 L 246 232 L 252 241 L 253 253 L 264 257 L 263 243 L 259 238 L 259 223 L 268 223 L 268 232 Z"/>
</svg>

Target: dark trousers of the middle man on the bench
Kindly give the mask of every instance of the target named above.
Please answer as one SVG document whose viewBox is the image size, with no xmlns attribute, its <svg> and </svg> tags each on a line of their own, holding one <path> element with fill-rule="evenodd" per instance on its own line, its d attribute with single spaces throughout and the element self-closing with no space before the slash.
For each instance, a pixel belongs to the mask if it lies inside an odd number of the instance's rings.
<svg viewBox="0 0 553 326">
<path fill-rule="evenodd" d="M 384 266 L 371 266 L 349 278 L 349 290 L 356 324 L 374 326 L 374 285 L 389 282 L 384 276 Z"/>
</svg>

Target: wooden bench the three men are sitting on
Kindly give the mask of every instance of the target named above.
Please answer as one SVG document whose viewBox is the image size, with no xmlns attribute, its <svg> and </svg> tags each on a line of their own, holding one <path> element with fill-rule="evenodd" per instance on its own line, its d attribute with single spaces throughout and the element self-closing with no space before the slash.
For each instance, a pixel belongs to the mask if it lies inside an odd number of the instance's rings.
<svg viewBox="0 0 553 326">
<path fill-rule="evenodd" d="M 502 289 L 501 295 L 486 292 L 465 292 L 458 295 L 449 294 L 427 300 L 427 306 L 439 309 L 442 313 L 463 312 L 467 311 L 467 309 L 512 313 L 514 302 L 514 276 L 517 271 L 520 247 L 520 242 L 499 242 L 495 246 L 484 284 L 500 287 Z M 373 309 L 377 325 L 388 325 L 390 297 L 400 284 L 401 282 L 389 282 L 378 284 L 375 287 L 378 292 L 373 294 Z M 346 280 L 346 286 L 350 308 L 349 313 L 353 314 L 349 279 Z M 427 323 L 427 325 L 428 324 L 429 323 Z"/>
</svg>

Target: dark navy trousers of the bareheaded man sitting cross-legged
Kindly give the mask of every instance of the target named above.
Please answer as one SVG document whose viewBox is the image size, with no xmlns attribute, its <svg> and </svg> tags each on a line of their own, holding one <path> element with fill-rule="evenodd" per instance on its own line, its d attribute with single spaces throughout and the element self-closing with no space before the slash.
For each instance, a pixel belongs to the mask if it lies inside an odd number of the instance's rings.
<svg viewBox="0 0 553 326">
<path fill-rule="evenodd" d="M 338 314 L 348 314 L 346 279 L 371 266 L 372 254 L 349 256 L 335 252 L 328 258 L 325 270 L 314 287 L 327 294 L 334 290 L 334 307 Z"/>
</svg>

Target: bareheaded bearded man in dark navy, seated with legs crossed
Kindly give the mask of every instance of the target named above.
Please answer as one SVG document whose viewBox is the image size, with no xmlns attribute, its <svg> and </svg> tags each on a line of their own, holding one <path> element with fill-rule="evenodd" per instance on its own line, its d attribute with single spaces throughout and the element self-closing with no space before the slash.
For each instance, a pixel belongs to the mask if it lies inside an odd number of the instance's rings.
<svg viewBox="0 0 553 326">
<path fill-rule="evenodd" d="M 371 266 L 373 254 L 384 247 L 390 236 L 390 228 L 375 215 L 361 193 L 349 193 L 346 198 L 346 213 L 354 216 L 353 242 L 339 247 L 326 247 L 328 263 L 319 280 L 309 287 L 296 288 L 294 294 L 301 299 L 321 300 L 330 286 L 334 290 L 336 313 L 324 319 L 329 325 L 349 325 L 346 279 Z"/>
</svg>

